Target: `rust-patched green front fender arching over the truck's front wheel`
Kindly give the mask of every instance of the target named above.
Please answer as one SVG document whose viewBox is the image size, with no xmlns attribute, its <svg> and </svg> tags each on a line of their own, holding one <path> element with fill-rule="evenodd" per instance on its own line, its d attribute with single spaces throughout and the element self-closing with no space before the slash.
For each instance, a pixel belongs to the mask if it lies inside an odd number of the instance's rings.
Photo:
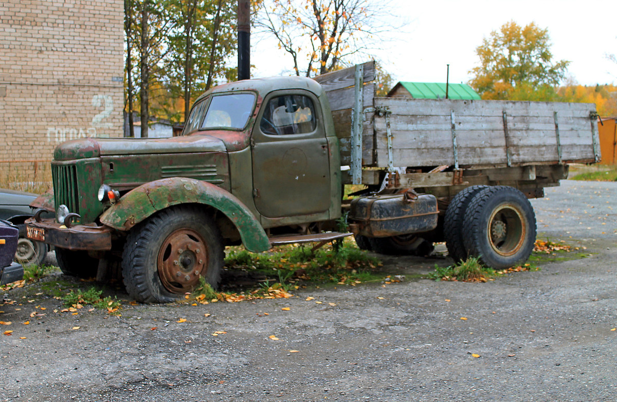
<svg viewBox="0 0 617 402">
<path fill-rule="evenodd" d="M 167 178 L 136 187 L 101 215 L 101 223 L 126 231 L 156 211 L 182 203 L 200 203 L 221 211 L 236 225 L 247 250 L 270 249 L 265 231 L 241 200 L 214 184 L 195 179 Z"/>
</svg>

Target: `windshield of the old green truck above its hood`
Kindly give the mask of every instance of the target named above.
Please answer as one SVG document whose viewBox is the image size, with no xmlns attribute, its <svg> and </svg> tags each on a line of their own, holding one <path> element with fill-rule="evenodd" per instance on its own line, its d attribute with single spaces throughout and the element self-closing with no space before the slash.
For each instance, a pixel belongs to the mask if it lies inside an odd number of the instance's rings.
<svg viewBox="0 0 617 402">
<path fill-rule="evenodd" d="M 213 96 L 210 105 L 204 99 L 193 107 L 184 134 L 197 130 L 228 128 L 239 130 L 246 126 L 255 105 L 254 94 L 225 94 Z"/>
</svg>

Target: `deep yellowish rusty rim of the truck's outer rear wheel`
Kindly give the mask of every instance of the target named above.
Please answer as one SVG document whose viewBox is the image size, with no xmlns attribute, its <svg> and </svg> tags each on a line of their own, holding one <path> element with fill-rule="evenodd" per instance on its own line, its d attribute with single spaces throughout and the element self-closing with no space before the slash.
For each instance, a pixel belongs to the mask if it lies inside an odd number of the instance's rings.
<svg viewBox="0 0 617 402">
<path fill-rule="evenodd" d="M 487 238 L 495 253 L 511 256 L 524 244 L 528 228 L 516 205 L 507 203 L 495 208 L 487 225 Z"/>
</svg>

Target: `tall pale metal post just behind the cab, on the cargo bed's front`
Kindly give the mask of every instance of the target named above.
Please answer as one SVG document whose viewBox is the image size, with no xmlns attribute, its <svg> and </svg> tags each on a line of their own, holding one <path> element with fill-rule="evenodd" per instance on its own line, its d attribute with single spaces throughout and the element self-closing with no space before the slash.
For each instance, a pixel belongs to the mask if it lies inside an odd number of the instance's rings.
<svg viewBox="0 0 617 402">
<path fill-rule="evenodd" d="M 364 65 L 355 65 L 354 109 L 351 113 L 351 178 L 362 184 L 362 107 L 364 105 Z"/>
</svg>

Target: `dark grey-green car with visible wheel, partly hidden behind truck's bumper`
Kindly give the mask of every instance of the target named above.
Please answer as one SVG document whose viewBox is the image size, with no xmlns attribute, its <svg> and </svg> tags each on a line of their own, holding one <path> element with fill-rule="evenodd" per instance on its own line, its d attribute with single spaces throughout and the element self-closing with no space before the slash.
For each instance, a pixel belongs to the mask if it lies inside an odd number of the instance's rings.
<svg viewBox="0 0 617 402">
<path fill-rule="evenodd" d="M 15 261 L 23 265 L 40 265 L 48 252 L 48 246 L 26 237 L 24 221 L 32 216 L 30 203 L 38 195 L 30 192 L 0 189 L 0 219 L 9 221 L 19 229 Z"/>
</svg>

